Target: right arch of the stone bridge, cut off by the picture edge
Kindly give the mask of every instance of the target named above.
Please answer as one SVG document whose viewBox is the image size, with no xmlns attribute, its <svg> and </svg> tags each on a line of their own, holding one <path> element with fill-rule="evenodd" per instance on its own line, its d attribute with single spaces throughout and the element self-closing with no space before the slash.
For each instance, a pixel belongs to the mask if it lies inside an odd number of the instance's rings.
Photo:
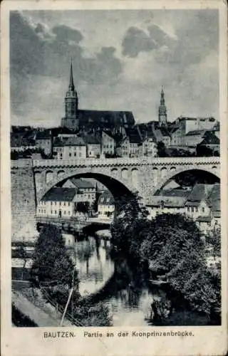
<svg viewBox="0 0 228 356">
<path fill-rule="evenodd" d="M 214 167 L 212 168 L 207 168 L 207 169 L 202 169 L 202 168 L 197 168 L 197 169 L 190 169 L 190 168 L 176 168 L 176 169 L 170 169 L 170 171 L 167 171 L 167 174 L 165 175 L 165 177 L 162 177 L 162 179 L 160 180 L 159 184 L 157 184 L 156 187 L 156 191 L 159 191 L 160 189 L 163 189 L 169 182 L 171 182 L 172 180 L 175 180 L 178 176 L 180 176 L 180 174 L 185 174 L 185 173 L 190 173 L 190 174 L 194 174 L 195 172 L 202 173 L 204 174 L 204 176 L 209 177 L 210 179 L 214 178 L 215 182 L 218 182 L 220 177 L 219 177 L 219 172 L 217 172 L 217 170 L 214 169 Z"/>
</svg>

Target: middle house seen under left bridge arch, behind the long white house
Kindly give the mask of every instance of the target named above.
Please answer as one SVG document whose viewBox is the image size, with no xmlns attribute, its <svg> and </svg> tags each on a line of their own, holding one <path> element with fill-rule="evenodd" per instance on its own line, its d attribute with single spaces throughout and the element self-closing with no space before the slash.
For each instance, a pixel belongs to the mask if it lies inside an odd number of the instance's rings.
<svg viewBox="0 0 228 356">
<path fill-rule="evenodd" d="M 76 189 L 75 201 L 88 201 L 88 205 L 92 206 L 96 197 L 96 186 L 86 179 L 70 178 L 64 184 L 64 188 Z"/>
</svg>

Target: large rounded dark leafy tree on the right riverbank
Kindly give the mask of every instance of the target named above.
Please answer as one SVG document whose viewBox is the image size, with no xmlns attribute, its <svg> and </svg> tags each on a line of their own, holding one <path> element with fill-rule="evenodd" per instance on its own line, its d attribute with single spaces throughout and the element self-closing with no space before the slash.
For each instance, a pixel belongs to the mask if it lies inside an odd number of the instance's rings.
<svg viewBox="0 0 228 356">
<path fill-rule="evenodd" d="M 192 308 L 207 315 L 220 308 L 220 273 L 207 268 L 195 221 L 180 214 L 157 216 L 142 239 L 140 253 L 152 271 L 162 274 Z"/>
</svg>

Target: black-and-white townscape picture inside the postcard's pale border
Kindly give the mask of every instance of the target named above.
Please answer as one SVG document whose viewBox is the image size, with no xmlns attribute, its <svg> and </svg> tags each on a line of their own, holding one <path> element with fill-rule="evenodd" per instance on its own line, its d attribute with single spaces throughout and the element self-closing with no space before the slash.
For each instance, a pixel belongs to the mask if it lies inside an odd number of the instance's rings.
<svg viewBox="0 0 228 356">
<path fill-rule="evenodd" d="M 9 11 L 14 330 L 221 327 L 219 41 L 217 8 Z"/>
</svg>

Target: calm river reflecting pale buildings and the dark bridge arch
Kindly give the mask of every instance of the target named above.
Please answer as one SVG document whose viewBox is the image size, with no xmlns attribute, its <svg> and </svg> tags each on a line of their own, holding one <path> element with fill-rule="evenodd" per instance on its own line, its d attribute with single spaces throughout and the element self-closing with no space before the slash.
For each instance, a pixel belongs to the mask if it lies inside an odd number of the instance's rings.
<svg viewBox="0 0 228 356">
<path fill-rule="evenodd" d="M 162 305 L 164 318 L 160 325 L 209 324 L 204 316 L 175 303 L 177 300 L 162 288 L 151 286 L 149 278 L 127 261 L 111 257 L 109 241 L 89 236 L 74 242 L 72 236 L 65 237 L 73 241 L 68 248 L 78 271 L 79 292 L 84 297 L 92 295 L 93 303 L 102 301 L 108 305 L 113 326 L 155 325 L 150 318 L 152 303 Z M 173 304 L 175 308 L 171 307 Z"/>
</svg>

